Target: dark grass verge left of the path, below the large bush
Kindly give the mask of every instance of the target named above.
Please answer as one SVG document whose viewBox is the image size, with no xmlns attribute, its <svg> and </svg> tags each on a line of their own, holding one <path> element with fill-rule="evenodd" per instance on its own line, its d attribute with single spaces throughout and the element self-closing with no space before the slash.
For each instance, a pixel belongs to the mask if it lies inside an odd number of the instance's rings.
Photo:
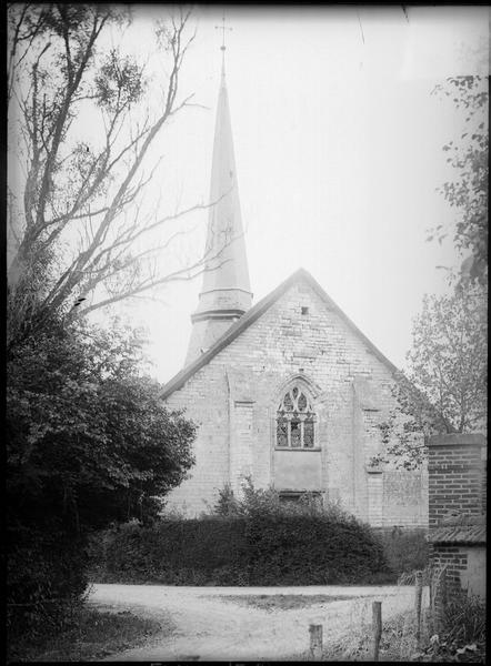
<svg viewBox="0 0 491 666">
<path fill-rule="evenodd" d="M 12 638 L 8 644 L 8 663 L 98 660 L 171 632 L 172 623 L 164 615 L 156 619 L 129 610 L 82 606 L 57 635 Z"/>
</svg>

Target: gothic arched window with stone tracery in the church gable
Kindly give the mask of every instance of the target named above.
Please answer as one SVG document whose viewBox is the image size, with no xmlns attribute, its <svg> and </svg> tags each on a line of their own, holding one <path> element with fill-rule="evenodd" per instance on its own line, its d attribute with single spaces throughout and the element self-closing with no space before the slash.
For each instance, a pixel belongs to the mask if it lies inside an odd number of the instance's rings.
<svg viewBox="0 0 491 666">
<path fill-rule="evenodd" d="M 294 384 L 283 395 L 277 412 L 277 446 L 281 448 L 314 447 L 315 414 L 311 401 L 301 387 Z"/>
</svg>

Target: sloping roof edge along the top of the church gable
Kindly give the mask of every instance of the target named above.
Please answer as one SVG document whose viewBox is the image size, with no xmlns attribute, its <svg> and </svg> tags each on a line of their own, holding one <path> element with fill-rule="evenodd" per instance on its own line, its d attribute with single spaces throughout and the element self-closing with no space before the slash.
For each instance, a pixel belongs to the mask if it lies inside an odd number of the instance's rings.
<svg viewBox="0 0 491 666">
<path fill-rule="evenodd" d="M 284 280 L 277 289 L 270 292 L 267 296 L 258 301 L 250 310 L 248 310 L 234 324 L 228 329 L 221 337 L 206 352 L 196 359 L 192 363 L 184 366 L 177 375 L 174 375 L 163 386 L 161 397 L 166 400 L 174 391 L 181 389 L 186 382 L 196 372 L 198 372 L 203 365 L 207 365 L 213 356 L 216 356 L 221 350 L 229 345 L 236 337 L 238 337 L 246 329 L 255 322 L 271 305 L 273 305 L 290 286 L 300 281 L 307 282 L 313 291 L 321 297 L 329 310 L 335 312 L 335 314 L 348 325 L 348 327 L 364 343 L 367 349 L 381 361 L 391 373 L 398 373 L 399 370 L 380 352 L 375 345 L 353 324 L 353 322 L 344 314 L 344 312 L 334 303 L 334 301 L 324 292 L 321 285 L 312 278 L 312 275 L 304 269 L 299 269 L 290 278 Z"/>
</svg>

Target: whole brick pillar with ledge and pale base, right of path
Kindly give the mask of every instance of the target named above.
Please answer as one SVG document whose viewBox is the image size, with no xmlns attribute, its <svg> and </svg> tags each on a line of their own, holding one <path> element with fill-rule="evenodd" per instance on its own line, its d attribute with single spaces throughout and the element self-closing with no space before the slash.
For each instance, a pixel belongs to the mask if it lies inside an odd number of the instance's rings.
<svg viewBox="0 0 491 666">
<path fill-rule="evenodd" d="M 431 562 L 445 567 L 449 594 L 485 596 L 485 438 L 439 435 L 430 438 L 429 452 Z"/>
</svg>

